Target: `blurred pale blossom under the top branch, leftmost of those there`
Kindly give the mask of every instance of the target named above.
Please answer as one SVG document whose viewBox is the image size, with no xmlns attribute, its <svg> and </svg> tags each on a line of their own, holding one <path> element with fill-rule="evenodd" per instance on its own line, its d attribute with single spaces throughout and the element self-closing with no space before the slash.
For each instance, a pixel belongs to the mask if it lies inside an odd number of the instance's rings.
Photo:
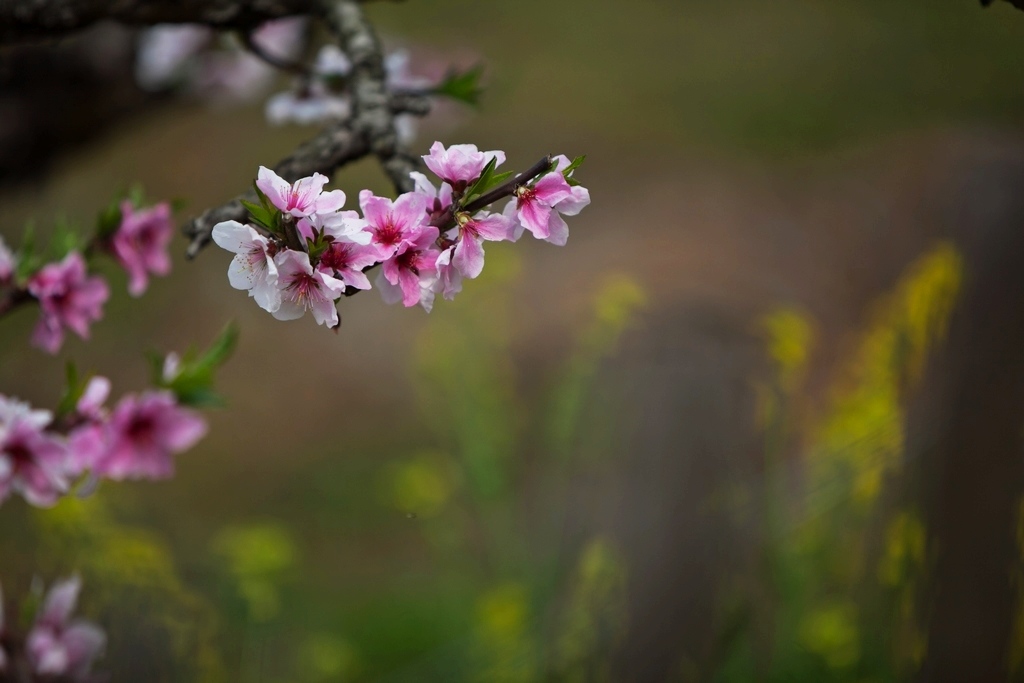
<svg viewBox="0 0 1024 683">
<path fill-rule="evenodd" d="M 135 81 L 145 90 L 162 90 L 185 79 L 188 61 L 213 39 L 196 24 L 158 24 L 139 33 Z"/>
</svg>

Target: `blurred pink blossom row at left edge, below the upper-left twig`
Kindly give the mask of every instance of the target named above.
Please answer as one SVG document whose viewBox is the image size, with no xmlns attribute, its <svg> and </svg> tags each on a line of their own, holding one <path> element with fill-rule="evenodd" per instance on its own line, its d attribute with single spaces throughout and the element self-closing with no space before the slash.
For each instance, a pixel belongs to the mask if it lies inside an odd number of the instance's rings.
<svg viewBox="0 0 1024 683">
<path fill-rule="evenodd" d="M 128 394 L 109 410 L 110 390 L 109 380 L 93 377 L 57 420 L 0 395 L 0 503 L 16 493 L 50 506 L 83 476 L 165 478 L 174 470 L 172 456 L 206 434 L 203 418 L 179 405 L 172 391 Z"/>
</svg>

